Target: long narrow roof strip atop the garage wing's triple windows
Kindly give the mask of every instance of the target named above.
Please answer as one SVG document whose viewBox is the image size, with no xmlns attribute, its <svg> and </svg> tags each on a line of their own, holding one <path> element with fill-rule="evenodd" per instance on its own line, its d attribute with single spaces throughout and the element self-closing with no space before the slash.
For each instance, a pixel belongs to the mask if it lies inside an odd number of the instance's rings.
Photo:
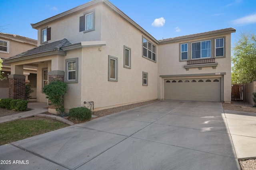
<svg viewBox="0 0 256 170">
<path fill-rule="evenodd" d="M 184 35 L 184 36 L 180 36 L 180 37 L 162 39 L 162 40 L 159 40 L 159 43 L 164 44 L 164 43 L 172 43 L 172 42 L 177 42 L 177 41 L 186 41 L 189 39 L 194 39 L 195 37 L 201 38 L 201 37 L 208 37 L 209 35 L 214 36 L 214 35 L 220 35 L 223 33 L 233 33 L 233 32 L 236 32 L 236 29 L 234 29 L 234 28 L 218 29 L 215 31 L 208 31 L 208 32 L 204 32 L 204 33 L 196 33 L 196 34 Z"/>
</svg>

